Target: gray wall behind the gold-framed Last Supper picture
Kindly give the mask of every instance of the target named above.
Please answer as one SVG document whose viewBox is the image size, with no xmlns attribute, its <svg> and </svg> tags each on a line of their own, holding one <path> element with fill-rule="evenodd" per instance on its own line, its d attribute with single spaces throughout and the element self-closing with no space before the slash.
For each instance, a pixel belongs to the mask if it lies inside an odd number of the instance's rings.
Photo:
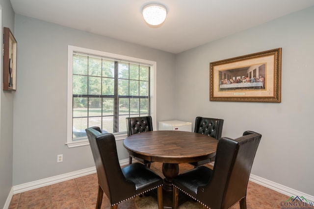
<svg viewBox="0 0 314 209">
<path fill-rule="evenodd" d="M 225 119 L 222 136 L 262 134 L 252 174 L 314 195 L 314 7 L 177 55 L 177 118 Z M 209 101 L 209 63 L 282 47 L 282 102 Z M 295 194 L 298 195 L 298 194 Z"/>
</svg>

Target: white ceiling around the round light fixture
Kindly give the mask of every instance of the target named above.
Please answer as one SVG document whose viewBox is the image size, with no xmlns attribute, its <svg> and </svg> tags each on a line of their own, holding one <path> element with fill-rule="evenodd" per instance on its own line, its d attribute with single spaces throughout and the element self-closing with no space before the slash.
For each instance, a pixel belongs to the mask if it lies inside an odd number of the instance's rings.
<svg viewBox="0 0 314 209">
<path fill-rule="evenodd" d="M 314 5 L 314 0 L 11 0 L 15 13 L 179 53 Z M 141 10 L 167 7 L 149 27 Z"/>
</svg>

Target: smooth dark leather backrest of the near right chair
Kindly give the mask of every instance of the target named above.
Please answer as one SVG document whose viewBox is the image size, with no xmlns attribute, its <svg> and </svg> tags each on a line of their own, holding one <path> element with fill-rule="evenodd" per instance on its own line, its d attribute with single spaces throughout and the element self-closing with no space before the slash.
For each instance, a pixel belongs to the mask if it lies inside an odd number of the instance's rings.
<svg viewBox="0 0 314 209">
<path fill-rule="evenodd" d="M 198 188 L 198 198 L 213 209 L 227 209 L 246 196 L 261 134 L 246 131 L 237 139 L 220 138 L 209 185 Z"/>
</svg>

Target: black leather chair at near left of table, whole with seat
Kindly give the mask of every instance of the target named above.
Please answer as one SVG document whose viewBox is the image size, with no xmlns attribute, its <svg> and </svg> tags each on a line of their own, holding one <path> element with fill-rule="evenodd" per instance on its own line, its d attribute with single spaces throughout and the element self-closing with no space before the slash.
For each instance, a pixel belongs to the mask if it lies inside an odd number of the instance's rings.
<svg viewBox="0 0 314 209">
<path fill-rule="evenodd" d="M 101 133 L 99 127 L 86 129 L 98 176 L 96 209 L 102 205 L 104 192 L 111 209 L 137 195 L 157 188 L 158 209 L 163 209 L 162 178 L 142 163 L 133 163 L 121 168 L 116 141 L 112 134 Z"/>
</svg>

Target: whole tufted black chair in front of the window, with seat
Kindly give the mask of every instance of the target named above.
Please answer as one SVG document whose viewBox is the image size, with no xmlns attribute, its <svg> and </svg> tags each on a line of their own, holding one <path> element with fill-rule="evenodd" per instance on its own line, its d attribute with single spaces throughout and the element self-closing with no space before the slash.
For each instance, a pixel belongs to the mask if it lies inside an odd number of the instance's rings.
<svg viewBox="0 0 314 209">
<path fill-rule="evenodd" d="M 151 116 L 127 117 L 126 121 L 128 136 L 133 134 L 140 134 L 142 132 L 153 131 L 153 122 Z M 147 167 L 151 167 L 151 163 L 153 163 L 152 161 L 147 161 L 130 155 L 129 164 L 132 164 L 132 158 L 135 158 L 137 161 L 145 164 Z"/>
</svg>

